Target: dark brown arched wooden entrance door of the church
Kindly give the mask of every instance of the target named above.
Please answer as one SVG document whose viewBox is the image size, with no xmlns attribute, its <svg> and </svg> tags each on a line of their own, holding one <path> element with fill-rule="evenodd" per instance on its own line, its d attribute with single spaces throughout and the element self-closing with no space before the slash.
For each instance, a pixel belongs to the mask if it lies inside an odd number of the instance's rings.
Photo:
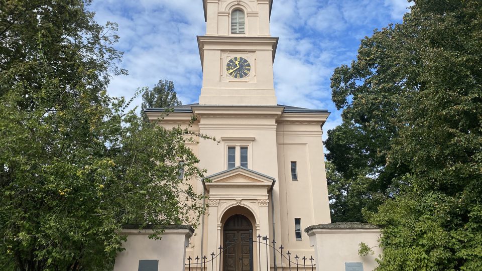
<svg viewBox="0 0 482 271">
<path fill-rule="evenodd" d="M 250 271 L 250 236 L 253 225 L 244 215 L 233 215 L 224 223 L 223 270 Z"/>
</svg>

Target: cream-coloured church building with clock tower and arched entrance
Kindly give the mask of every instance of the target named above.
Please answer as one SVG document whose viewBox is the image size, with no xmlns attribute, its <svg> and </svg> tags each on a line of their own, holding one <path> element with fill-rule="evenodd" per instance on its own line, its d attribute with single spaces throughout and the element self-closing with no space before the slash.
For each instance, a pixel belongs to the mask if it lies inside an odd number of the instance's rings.
<svg viewBox="0 0 482 271">
<path fill-rule="evenodd" d="M 210 181 L 191 180 L 197 193 L 206 195 L 208 209 L 186 258 L 237 243 L 210 268 L 250 270 L 250 251 L 239 242 L 250 238 L 283 245 L 293 256 L 314 255 L 303 229 L 331 222 L 322 143 L 329 112 L 278 104 L 272 0 L 202 1 L 206 34 L 197 37 L 203 71 L 199 103 L 175 107 L 160 120 L 166 128 L 184 126 L 194 114 L 192 130 L 219 141 L 190 146 Z M 152 121 L 165 114 L 163 108 L 146 112 Z M 251 257 L 261 266 L 288 265 L 273 248 L 253 249 Z"/>
</svg>

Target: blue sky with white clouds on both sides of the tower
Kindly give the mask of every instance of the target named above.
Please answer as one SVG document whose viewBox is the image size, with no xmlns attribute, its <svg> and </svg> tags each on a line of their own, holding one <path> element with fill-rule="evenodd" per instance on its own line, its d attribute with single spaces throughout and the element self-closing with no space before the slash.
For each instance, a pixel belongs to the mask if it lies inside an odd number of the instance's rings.
<svg viewBox="0 0 482 271">
<path fill-rule="evenodd" d="M 328 109 L 323 128 L 339 125 L 331 101 L 333 70 L 349 65 L 360 40 L 374 29 L 401 23 L 409 6 L 407 0 L 273 0 L 271 35 L 280 38 L 274 62 L 278 104 Z M 114 47 L 124 52 L 119 66 L 129 75 L 112 78 L 109 94 L 131 98 L 136 89 L 167 79 L 183 104 L 198 102 L 196 36 L 206 30 L 202 0 L 94 0 L 89 10 L 98 23 L 119 25 Z M 133 104 L 141 102 L 138 97 Z"/>
</svg>

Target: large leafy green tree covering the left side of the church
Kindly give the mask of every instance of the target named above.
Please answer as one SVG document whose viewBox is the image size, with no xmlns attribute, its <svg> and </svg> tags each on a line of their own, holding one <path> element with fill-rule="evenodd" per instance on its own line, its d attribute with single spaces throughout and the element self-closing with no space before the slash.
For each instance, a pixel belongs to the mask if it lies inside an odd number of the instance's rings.
<svg viewBox="0 0 482 271">
<path fill-rule="evenodd" d="M 195 226 L 185 180 L 204 171 L 188 131 L 106 94 L 125 73 L 115 24 L 96 24 L 88 0 L 0 4 L 0 269 L 106 270 L 124 224 Z"/>
</svg>

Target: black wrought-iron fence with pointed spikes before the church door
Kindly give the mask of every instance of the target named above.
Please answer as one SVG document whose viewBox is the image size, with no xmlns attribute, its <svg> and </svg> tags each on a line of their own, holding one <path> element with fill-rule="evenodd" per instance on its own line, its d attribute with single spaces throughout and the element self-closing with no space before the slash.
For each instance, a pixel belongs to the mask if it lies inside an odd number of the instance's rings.
<svg viewBox="0 0 482 271">
<path fill-rule="evenodd" d="M 196 256 L 195 258 L 192 258 L 191 256 L 189 256 L 189 258 L 187 258 L 187 262 L 185 263 L 186 265 L 186 268 L 187 270 L 189 271 L 198 271 L 198 270 L 202 270 L 202 271 L 214 271 L 214 266 L 216 266 L 216 263 L 219 263 L 219 271 L 222 270 L 222 266 L 223 266 L 223 262 L 221 261 L 221 256 L 224 255 L 224 253 L 226 253 L 226 251 L 228 251 L 228 249 L 230 247 L 234 247 L 236 246 L 237 244 L 241 244 L 241 243 L 244 243 L 244 244 L 249 244 L 249 247 L 250 247 L 250 266 L 249 266 L 249 270 L 250 271 L 253 271 L 254 270 L 254 264 L 255 264 L 255 260 L 254 260 L 254 255 L 253 255 L 253 247 L 256 245 L 258 246 L 258 260 L 256 261 L 256 264 L 257 264 L 257 267 L 258 267 L 258 271 L 269 271 L 270 270 L 270 266 L 268 265 L 268 257 L 270 255 L 270 252 L 271 250 L 273 251 L 273 258 L 274 258 L 274 268 L 275 270 L 277 270 L 277 266 L 276 266 L 276 258 L 277 256 L 281 256 L 282 258 L 282 262 L 283 263 L 283 270 L 296 270 L 296 271 L 306 271 L 306 270 L 311 270 L 313 271 L 314 268 L 316 267 L 316 264 L 314 263 L 314 258 L 313 256 L 310 255 L 309 258 L 307 258 L 305 255 L 303 256 L 299 256 L 298 254 L 294 254 L 291 253 L 289 250 L 286 251 L 284 250 L 285 248 L 283 247 L 283 245 L 281 245 L 280 247 L 275 247 L 276 245 L 276 241 L 271 241 L 269 242 L 269 238 L 268 236 L 261 236 L 261 235 L 258 235 L 257 236 L 257 239 L 258 240 L 254 240 L 252 235 L 250 235 L 250 238 L 248 240 L 240 240 L 240 241 L 236 241 L 234 240 L 233 242 L 228 242 L 227 245 L 225 245 L 225 247 L 222 247 L 221 245 L 218 247 L 218 250 L 219 251 L 212 251 L 211 254 L 209 254 L 210 257 L 208 257 L 207 255 L 204 255 L 204 256 Z M 262 265 L 262 261 L 261 261 L 261 250 L 262 249 L 265 249 L 266 251 L 266 266 L 261 266 Z M 284 260 L 283 260 L 284 259 Z M 287 262 L 287 266 L 286 266 L 286 262 Z M 281 266 L 280 266 L 281 267 Z M 246 269 L 243 269 L 243 270 L 246 270 Z M 217 271 L 217 270 L 216 270 Z M 236 270 L 237 271 L 237 270 Z"/>
</svg>

